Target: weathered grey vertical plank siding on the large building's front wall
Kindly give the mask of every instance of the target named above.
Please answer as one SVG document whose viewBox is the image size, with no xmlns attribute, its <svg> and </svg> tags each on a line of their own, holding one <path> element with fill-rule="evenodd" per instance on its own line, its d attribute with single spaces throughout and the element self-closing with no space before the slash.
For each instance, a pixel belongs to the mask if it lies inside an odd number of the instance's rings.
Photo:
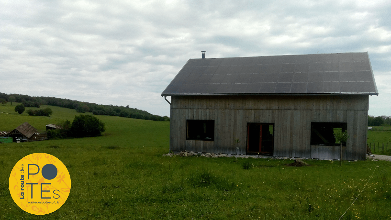
<svg viewBox="0 0 391 220">
<path fill-rule="evenodd" d="M 363 160 L 368 100 L 368 95 L 173 96 L 170 150 L 246 154 L 247 123 L 274 123 L 274 156 L 339 159 L 339 147 L 310 145 L 311 122 L 344 122 L 350 138 L 343 159 Z M 186 140 L 188 119 L 215 120 L 214 141 Z"/>
</svg>

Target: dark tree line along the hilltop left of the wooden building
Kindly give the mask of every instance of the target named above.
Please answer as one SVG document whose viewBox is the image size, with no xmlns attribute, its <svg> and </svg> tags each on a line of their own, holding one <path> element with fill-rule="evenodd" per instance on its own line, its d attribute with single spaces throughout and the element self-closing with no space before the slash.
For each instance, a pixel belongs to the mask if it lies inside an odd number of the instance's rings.
<svg viewBox="0 0 391 220">
<path fill-rule="evenodd" d="M 79 102 L 77 100 L 70 100 L 66 98 L 56 98 L 56 97 L 34 97 L 29 95 L 20 95 L 20 94 L 6 94 L 0 93 L 0 102 L 20 102 L 25 107 L 41 107 L 42 105 L 48 106 L 59 106 L 65 107 L 68 109 L 76 109 L 79 113 L 92 112 L 96 115 L 110 115 L 110 116 L 120 116 L 125 118 L 138 118 L 144 120 L 152 121 L 170 121 L 168 116 L 159 116 L 151 114 L 147 111 L 143 111 L 136 108 L 131 108 L 129 106 L 113 106 L 113 105 L 98 105 L 96 103 L 90 102 Z"/>
</svg>

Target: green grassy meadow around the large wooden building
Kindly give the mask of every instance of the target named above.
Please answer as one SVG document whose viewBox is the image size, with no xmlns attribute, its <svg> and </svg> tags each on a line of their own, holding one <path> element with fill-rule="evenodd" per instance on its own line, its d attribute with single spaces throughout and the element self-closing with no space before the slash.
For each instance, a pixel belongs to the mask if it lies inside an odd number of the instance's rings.
<svg viewBox="0 0 391 220">
<path fill-rule="evenodd" d="M 24 122 L 45 130 L 80 114 L 48 106 L 50 117 L 19 115 L 16 104 L 0 105 L 0 131 Z M 0 145 L 0 219 L 318 220 L 339 219 L 346 210 L 341 219 L 391 219 L 388 161 L 340 166 L 308 159 L 309 166 L 294 167 L 287 166 L 291 159 L 163 157 L 169 122 L 97 118 L 106 124 L 99 137 Z M 368 141 L 376 140 L 373 134 L 368 132 Z M 16 162 L 36 152 L 61 159 L 72 179 L 65 204 L 43 216 L 22 211 L 8 189 Z"/>
</svg>

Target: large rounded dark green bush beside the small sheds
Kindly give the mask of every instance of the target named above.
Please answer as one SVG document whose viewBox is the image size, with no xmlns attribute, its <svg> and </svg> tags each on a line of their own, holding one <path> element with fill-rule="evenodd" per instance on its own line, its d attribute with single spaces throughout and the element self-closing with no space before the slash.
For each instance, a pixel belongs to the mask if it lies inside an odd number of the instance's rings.
<svg viewBox="0 0 391 220">
<path fill-rule="evenodd" d="M 71 127 L 74 137 L 100 136 L 104 131 L 104 123 L 90 114 L 75 116 Z"/>
</svg>

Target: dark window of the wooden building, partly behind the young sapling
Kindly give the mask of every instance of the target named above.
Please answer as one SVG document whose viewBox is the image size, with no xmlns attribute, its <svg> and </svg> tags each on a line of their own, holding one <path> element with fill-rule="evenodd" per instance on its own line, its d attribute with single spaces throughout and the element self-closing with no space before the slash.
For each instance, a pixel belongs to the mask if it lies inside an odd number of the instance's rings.
<svg viewBox="0 0 391 220">
<path fill-rule="evenodd" d="M 334 132 L 344 132 L 347 126 L 348 123 L 311 122 L 311 145 L 339 146 Z M 346 146 L 346 142 L 343 142 L 342 146 Z"/>
</svg>

